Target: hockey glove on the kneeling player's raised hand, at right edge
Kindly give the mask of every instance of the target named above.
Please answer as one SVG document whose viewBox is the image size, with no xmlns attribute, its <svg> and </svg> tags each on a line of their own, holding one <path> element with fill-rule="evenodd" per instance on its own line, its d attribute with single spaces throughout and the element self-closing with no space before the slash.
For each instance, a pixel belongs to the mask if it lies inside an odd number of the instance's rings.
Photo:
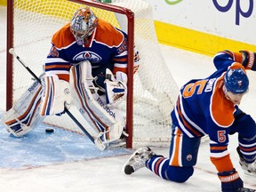
<svg viewBox="0 0 256 192">
<path fill-rule="evenodd" d="M 256 52 L 240 51 L 243 55 L 242 64 L 244 68 L 256 71 Z"/>
</svg>

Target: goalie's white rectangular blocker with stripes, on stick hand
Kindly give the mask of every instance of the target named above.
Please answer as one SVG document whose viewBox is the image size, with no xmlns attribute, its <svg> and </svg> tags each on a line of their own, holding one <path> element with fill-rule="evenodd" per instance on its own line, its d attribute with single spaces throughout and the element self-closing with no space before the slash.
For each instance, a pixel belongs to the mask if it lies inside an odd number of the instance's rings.
<svg viewBox="0 0 256 192">
<path fill-rule="evenodd" d="M 65 106 L 68 108 L 71 102 L 70 85 L 60 80 L 57 75 L 42 76 L 42 105 L 41 116 L 53 116 L 61 114 Z"/>
</svg>

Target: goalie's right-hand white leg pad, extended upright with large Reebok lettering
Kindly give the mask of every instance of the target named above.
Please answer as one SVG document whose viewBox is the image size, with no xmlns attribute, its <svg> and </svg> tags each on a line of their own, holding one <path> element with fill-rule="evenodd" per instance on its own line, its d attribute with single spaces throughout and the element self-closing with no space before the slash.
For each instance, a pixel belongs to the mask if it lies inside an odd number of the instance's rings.
<svg viewBox="0 0 256 192">
<path fill-rule="evenodd" d="M 120 139 L 125 127 L 125 119 L 116 109 L 108 108 L 105 96 L 99 96 L 92 83 L 92 66 L 86 60 L 70 68 L 70 87 L 76 107 L 92 129 L 99 132 L 96 138 L 103 143 Z"/>
</svg>

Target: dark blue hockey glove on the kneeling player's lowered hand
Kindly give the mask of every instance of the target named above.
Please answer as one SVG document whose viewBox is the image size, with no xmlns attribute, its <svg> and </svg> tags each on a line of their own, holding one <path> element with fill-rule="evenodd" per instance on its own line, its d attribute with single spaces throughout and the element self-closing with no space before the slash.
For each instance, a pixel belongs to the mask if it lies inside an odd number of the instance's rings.
<svg viewBox="0 0 256 192">
<path fill-rule="evenodd" d="M 231 172 L 219 172 L 218 176 L 221 181 L 222 192 L 237 191 L 244 186 L 243 180 L 241 180 L 235 168 Z"/>
</svg>

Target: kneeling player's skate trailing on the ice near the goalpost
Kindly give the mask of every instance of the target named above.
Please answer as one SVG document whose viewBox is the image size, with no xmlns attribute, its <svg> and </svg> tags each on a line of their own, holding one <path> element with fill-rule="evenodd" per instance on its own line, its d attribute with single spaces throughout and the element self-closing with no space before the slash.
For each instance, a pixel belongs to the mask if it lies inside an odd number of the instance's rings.
<svg viewBox="0 0 256 192">
<path fill-rule="evenodd" d="M 145 167 L 146 161 L 154 155 L 155 153 L 151 150 L 151 148 L 138 148 L 128 159 L 126 164 L 124 164 L 124 173 L 132 174 L 132 172 L 136 172 L 140 168 Z"/>
</svg>

